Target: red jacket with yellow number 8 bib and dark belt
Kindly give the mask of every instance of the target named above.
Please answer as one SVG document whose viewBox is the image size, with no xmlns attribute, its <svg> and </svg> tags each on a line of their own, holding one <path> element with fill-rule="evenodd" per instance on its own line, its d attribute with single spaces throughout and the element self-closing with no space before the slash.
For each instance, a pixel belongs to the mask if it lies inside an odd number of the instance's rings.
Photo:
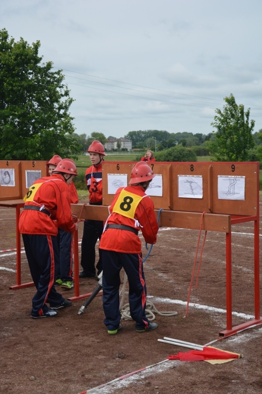
<svg viewBox="0 0 262 394">
<path fill-rule="evenodd" d="M 141 186 L 119 188 L 109 207 L 107 224 L 130 226 L 141 229 L 145 242 L 156 243 L 158 223 L 154 203 Z M 141 241 L 131 231 L 108 228 L 102 234 L 99 247 L 121 253 L 141 253 Z"/>
</svg>

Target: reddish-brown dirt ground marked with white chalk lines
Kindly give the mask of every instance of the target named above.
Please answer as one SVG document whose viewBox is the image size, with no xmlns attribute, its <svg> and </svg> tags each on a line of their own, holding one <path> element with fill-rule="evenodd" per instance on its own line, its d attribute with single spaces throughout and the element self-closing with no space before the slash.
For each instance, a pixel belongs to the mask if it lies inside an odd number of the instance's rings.
<svg viewBox="0 0 262 394">
<path fill-rule="evenodd" d="M 233 326 L 254 316 L 253 232 L 253 222 L 233 226 Z M 136 333 L 134 322 L 123 320 L 123 329 L 108 336 L 101 296 L 81 315 L 78 311 L 86 298 L 60 309 L 58 317 L 31 319 L 34 287 L 9 289 L 16 284 L 15 209 L 0 207 L 0 393 L 78 394 L 91 389 L 88 392 L 97 394 L 261 393 L 262 325 L 219 336 L 226 329 L 225 234 L 207 233 L 198 288 L 192 287 L 184 317 L 198 235 L 196 230 L 159 229 L 158 242 L 144 263 L 148 301 L 157 310 L 158 329 Z M 82 223 L 79 246 L 81 236 Z M 202 242 L 203 234 L 200 246 Z M 147 253 L 143 246 L 144 258 Z M 22 283 L 31 282 L 24 249 L 21 266 Z M 80 279 L 80 294 L 96 287 L 95 279 Z M 66 298 L 75 295 L 75 289 L 60 292 Z M 127 294 L 122 302 L 128 302 Z M 163 311 L 178 314 L 165 316 Z M 200 345 L 216 341 L 214 347 L 241 353 L 243 358 L 216 365 L 167 361 L 169 355 L 190 349 L 159 342 L 163 337 Z"/>
</svg>

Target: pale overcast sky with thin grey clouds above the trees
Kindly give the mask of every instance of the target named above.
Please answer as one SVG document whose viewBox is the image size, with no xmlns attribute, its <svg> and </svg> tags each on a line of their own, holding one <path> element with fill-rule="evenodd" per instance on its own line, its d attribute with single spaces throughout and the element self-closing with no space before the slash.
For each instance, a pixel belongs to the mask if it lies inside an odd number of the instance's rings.
<svg viewBox="0 0 262 394">
<path fill-rule="evenodd" d="M 78 134 L 208 134 L 231 93 L 262 128 L 261 0 L 8 0 L 0 28 L 62 69 Z"/>
</svg>

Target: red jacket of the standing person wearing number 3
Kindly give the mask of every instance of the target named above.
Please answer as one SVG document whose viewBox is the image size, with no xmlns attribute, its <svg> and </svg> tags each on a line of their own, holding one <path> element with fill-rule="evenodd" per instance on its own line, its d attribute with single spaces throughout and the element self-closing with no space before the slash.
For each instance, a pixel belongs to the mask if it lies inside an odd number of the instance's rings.
<svg viewBox="0 0 262 394">
<path fill-rule="evenodd" d="M 89 191 L 89 202 L 101 205 L 102 195 L 102 163 L 91 165 L 86 170 L 86 186 Z"/>
</svg>

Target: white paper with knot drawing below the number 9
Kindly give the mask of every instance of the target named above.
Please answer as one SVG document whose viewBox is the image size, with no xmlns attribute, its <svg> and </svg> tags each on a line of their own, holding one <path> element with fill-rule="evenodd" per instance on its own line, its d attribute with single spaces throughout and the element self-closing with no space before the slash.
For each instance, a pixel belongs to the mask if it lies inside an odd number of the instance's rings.
<svg viewBox="0 0 262 394">
<path fill-rule="evenodd" d="M 245 177 L 218 175 L 219 200 L 245 200 Z"/>
</svg>

